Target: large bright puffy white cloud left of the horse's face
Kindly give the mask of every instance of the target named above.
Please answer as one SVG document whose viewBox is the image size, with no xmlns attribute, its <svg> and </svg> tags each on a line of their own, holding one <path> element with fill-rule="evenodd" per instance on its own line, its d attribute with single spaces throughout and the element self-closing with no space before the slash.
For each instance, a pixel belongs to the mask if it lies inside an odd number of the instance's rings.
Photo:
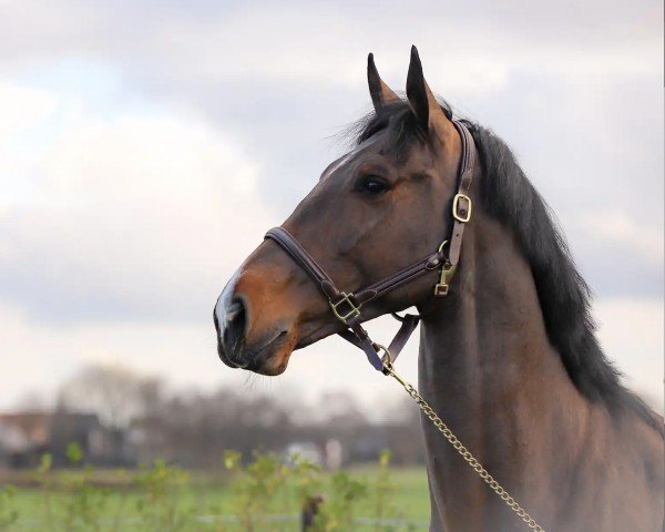
<svg viewBox="0 0 665 532">
<path fill-rule="evenodd" d="M 257 165 L 192 115 L 100 119 L 74 108 L 19 176 L 32 194 L 0 212 L 7 291 L 20 286 L 31 313 L 65 320 L 212 308 L 237 266 L 228 248 L 247 255 L 275 222 Z"/>
</svg>

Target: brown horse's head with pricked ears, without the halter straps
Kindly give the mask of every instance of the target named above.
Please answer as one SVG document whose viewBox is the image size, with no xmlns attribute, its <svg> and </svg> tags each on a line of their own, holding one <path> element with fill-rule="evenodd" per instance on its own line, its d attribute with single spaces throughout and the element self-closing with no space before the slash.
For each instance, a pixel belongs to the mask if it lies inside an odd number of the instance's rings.
<svg viewBox="0 0 665 532">
<path fill-rule="evenodd" d="M 415 47 L 406 100 L 383 83 L 371 54 L 367 73 L 374 112 L 357 146 L 324 170 L 282 225 L 348 290 L 437 249 L 450 232 L 461 157 L 451 113 L 429 89 Z M 426 276 L 371 301 L 362 320 L 423 304 L 434 283 Z M 282 374 L 295 349 L 345 328 L 307 274 L 269 239 L 227 283 L 214 321 L 219 358 L 264 375 Z"/>
</svg>

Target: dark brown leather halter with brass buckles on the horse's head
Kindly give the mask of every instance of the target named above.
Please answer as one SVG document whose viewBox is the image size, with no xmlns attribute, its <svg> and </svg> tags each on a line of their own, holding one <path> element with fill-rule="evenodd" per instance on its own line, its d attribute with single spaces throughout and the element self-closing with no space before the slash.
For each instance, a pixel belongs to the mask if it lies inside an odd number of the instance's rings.
<svg viewBox="0 0 665 532">
<path fill-rule="evenodd" d="M 448 294 L 449 282 L 458 266 L 460 252 L 462 248 L 462 235 L 464 225 L 471 219 L 472 203 L 469 197 L 471 180 L 473 178 L 473 157 L 475 145 L 473 137 L 467 126 L 458 121 L 453 121 L 461 141 L 462 156 L 460 161 L 458 191 L 452 198 L 452 233 L 450 238 L 444 241 L 439 249 L 422 260 L 400 269 L 396 274 L 381 279 L 356 293 L 341 291 L 321 268 L 309 253 L 298 243 L 298 241 L 283 227 L 273 227 L 266 233 L 265 238 L 269 238 L 279 244 L 282 248 L 318 284 L 321 291 L 328 298 L 330 309 L 337 319 L 339 319 L 347 329 L 339 332 L 345 340 L 365 351 L 369 364 L 379 371 L 387 372 L 387 365 L 392 365 L 399 352 L 407 344 L 409 337 L 418 326 L 420 316 L 407 314 L 405 317 L 393 316 L 402 325 L 388 348 L 374 342 L 367 330 L 360 325 L 360 308 L 390 290 L 399 288 L 407 283 L 420 277 L 428 272 L 440 272 L 439 283 L 434 286 L 434 296 L 442 297 Z M 385 351 L 383 357 L 379 354 Z"/>
</svg>

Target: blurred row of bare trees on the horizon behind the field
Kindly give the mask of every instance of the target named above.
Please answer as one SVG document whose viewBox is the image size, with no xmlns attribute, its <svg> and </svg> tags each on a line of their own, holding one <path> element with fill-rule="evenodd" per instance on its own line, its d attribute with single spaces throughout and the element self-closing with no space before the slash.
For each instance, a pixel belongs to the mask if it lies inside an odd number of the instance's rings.
<svg viewBox="0 0 665 532">
<path fill-rule="evenodd" d="M 331 438 L 349 461 L 375 460 L 385 448 L 392 450 L 396 463 L 422 460 L 422 446 L 415 438 L 420 416 L 406 399 L 385 419 L 370 421 L 357 399 L 344 391 L 323 393 L 314 405 L 297 395 L 274 397 L 224 386 L 166 393 L 158 378 L 119 366 L 90 366 L 60 390 L 54 427 L 62 446 L 73 433 L 66 423 L 75 419 L 69 412 L 96 413 L 117 437 L 117 449 L 129 446 L 137 461 L 162 458 L 215 468 L 224 449 L 249 459 L 255 449 L 279 452 L 293 442 L 323 449 Z"/>
</svg>

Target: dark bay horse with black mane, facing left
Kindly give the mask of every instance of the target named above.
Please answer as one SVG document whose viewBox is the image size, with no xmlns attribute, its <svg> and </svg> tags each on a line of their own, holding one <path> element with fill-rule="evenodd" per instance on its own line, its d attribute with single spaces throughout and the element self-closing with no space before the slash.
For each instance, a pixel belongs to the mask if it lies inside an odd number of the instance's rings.
<svg viewBox="0 0 665 532">
<path fill-rule="evenodd" d="M 590 288 L 510 149 L 433 95 L 416 48 L 406 98 L 372 54 L 368 83 L 374 111 L 352 150 L 217 299 L 219 358 L 279 375 L 294 350 L 334 334 L 378 349 L 359 324 L 416 307 L 422 398 L 533 516 L 521 523 L 423 415 L 430 531 L 665 530 L 663 418 L 601 349 Z M 362 304 L 336 288 L 376 287 L 423 256 L 418 275 Z"/>
</svg>

